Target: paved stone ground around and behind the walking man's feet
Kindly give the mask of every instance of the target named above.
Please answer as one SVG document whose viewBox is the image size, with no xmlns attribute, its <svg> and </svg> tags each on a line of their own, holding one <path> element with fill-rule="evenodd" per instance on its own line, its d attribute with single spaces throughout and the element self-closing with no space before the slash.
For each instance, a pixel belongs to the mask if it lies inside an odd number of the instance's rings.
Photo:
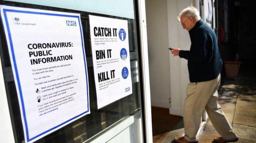
<svg viewBox="0 0 256 143">
<path fill-rule="evenodd" d="M 239 77 L 225 79 L 219 89 L 219 103 L 239 137 L 237 143 L 256 143 L 256 63 L 243 62 Z M 171 131 L 162 143 L 175 143 L 175 136 L 182 135 L 183 122 Z M 212 143 L 220 136 L 211 121 L 199 134 L 199 143 Z"/>
</svg>

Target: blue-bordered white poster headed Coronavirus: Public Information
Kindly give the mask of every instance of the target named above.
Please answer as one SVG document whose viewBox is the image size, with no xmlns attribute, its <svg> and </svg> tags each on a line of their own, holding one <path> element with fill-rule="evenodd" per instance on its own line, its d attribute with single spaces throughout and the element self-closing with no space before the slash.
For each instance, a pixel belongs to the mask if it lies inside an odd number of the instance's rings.
<svg viewBox="0 0 256 143">
<path fill-rule="evenodd" d="M 0 6 L 25 142 L 89 114 L 80 14 Z"/>
</svg>

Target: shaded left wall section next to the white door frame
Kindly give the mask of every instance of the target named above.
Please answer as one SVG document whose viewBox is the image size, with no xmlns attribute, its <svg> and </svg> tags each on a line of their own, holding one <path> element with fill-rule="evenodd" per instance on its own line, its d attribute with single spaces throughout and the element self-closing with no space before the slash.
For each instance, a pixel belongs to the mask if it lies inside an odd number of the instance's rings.
<svg viewBox="0 0 256 143">
<path fill-rule="evenodd" d="M 151 105 L 170 108 L 170 61 L 166 0 L 145 0 Z"/>
</svg>

